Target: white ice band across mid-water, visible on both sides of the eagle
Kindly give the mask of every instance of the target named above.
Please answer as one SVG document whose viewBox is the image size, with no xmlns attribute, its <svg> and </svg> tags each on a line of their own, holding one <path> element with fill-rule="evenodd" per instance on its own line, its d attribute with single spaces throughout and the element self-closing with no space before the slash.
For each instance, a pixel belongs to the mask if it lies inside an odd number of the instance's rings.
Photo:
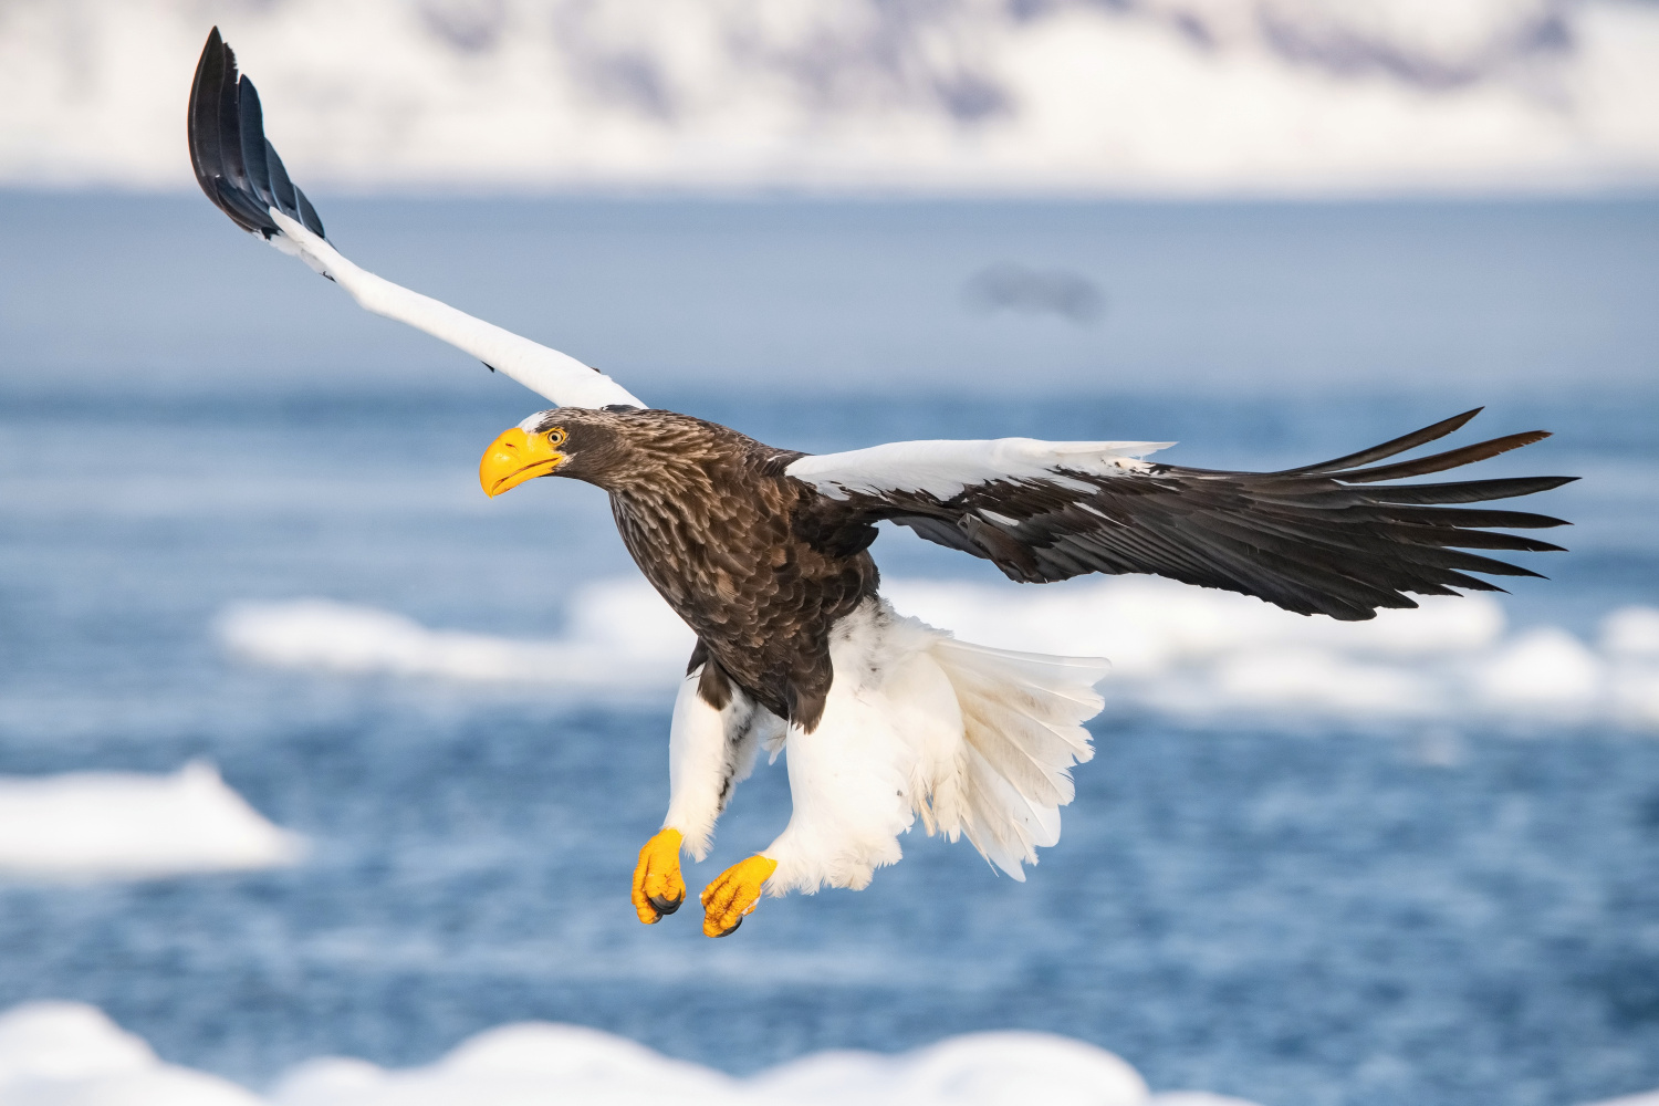
<svg viewBox="0 0 1659 1106">
<path fill-rule="evenodd" d="M 1102 688 L 1115 708 L 1659 728 L 1659 610 L 1647 607 L 1613 612 L 1588 643 L 1559 627 L 1510 632 L 1503 607 L 1478 594 L 1334 622 L 1148 577 L 1044 589 L 891 580 L 884 590 L 902 614 L 967 642 L 1108 657 Z M 267 665 L 589 693 L 672 688 L 692 648 L 690 630 L 642 580 L 579 592 L 567 627 L 552 640 L 513 640 L 297 600 L 234 607 L 219 633 Z"/>
</svg>

